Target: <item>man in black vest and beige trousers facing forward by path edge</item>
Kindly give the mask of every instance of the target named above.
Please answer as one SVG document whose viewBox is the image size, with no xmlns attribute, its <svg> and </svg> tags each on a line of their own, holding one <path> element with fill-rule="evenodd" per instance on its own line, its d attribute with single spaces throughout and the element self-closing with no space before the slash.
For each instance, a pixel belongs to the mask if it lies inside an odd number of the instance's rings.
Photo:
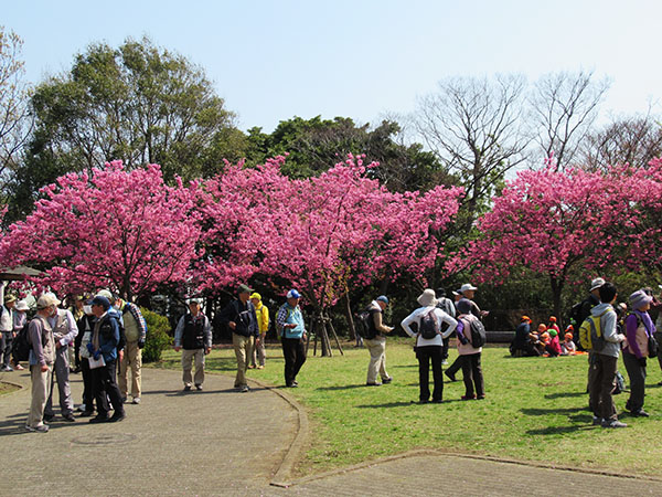
<svg viewBox="0 0 662 497">
<path fill-rule="evenodd" d="M 204 357 L 212 351 L 212 327 L 200 310 L 200 300 L 189 300 L 189 313 L 182 316 L 174 330 L 174 351 L 182 350 L 182 381 L 189 392 L 195 381 L 195 390 L 204 383 Z M 191 361 L 195 359 L 195 379 L 191 378 Z"/>
</svg>

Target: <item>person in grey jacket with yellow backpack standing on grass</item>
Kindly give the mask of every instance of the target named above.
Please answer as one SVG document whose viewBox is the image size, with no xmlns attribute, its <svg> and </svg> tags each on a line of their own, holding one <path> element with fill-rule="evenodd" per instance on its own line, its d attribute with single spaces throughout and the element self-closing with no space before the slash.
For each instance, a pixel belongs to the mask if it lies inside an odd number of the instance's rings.
<svg viewBox="0 0 662 497">
<path fill-rule="evenodd" d="M 592 423 L 610 429 L 626 427 L 626 423 L 618 421 L 616 405 L 611 396 L 620 345 L 626 340 L 624 335 L 619 334 L 616 327 L 617 317 L 612 307 L 617 297 L 616 286 L 607 282 L 600 286 L 599 293 L 600 304 L 590 311 L 591 316 L 599 317 L 596 324 L 596 328 L 599 327 L 597 336 L 602 337 L 604 340 L 601 348 L 594 343 L 594 350 L 590 355 L 590 383 L 588 387 L 590 409 L 594 413 Z"/>
</svg>

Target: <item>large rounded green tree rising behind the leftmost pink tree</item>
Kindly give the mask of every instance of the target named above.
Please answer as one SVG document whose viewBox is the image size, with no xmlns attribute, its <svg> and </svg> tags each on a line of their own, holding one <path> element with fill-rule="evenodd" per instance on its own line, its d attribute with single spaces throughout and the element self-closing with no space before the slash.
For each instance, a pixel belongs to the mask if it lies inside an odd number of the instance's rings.
<svg viewBox="0 0 662 497">
<path fill-rule="evenodd" d="M 166 179 L 188 179 L 243 156 L 245 136 L 204 71 L 147 38 L 118 49 L 89 45 L 71 71 L 40 84 L 31 104 L 35 131 L 11 178 L 26 209 L 35 189 L 63 171 L 121 159 L 129 168 L 159 163 Z"/>
</svg>

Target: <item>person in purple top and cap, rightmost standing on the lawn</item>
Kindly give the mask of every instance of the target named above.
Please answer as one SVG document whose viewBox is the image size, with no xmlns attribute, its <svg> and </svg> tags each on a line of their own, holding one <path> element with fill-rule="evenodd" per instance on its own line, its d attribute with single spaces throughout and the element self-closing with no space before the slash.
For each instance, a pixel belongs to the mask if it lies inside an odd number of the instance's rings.
<svg viewBox="0 0 662 497">
<path fill-rule="evenodd" d="M 623 347 L 623 363 L 630 377 L 630 399 L 626 409 L 634 416 L 648 417 L 649 413 L 643 410 L 645 395 L 645 367 L 647 358 L 650 357 L 649 342 L 654 340 L 655 325 L 651 320 L 648 310 L 653 297 L 643 290 L 637 290 L 630 295 L 630 307 L 632 313 L 626 318 L 626 337 Z"/>
</svg>

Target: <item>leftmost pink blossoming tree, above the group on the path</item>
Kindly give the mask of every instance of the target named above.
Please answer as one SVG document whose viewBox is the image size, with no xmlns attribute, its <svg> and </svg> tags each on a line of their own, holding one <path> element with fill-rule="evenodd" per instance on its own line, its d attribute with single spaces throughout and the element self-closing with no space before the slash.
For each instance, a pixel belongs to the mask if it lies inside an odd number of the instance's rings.
<svg viewBox="0 0 662 497">
<path fill-rule="evenodd" d="M 114 161 L 41 193 L 0 254 L 43 269 L 39 284 L 62 293 L 111 287 L 131 299 L 184 281 L 200 234 L 194 198 L 179 179 L 167 186 L 159 166 L 127 171 Z"/>
</svg>

